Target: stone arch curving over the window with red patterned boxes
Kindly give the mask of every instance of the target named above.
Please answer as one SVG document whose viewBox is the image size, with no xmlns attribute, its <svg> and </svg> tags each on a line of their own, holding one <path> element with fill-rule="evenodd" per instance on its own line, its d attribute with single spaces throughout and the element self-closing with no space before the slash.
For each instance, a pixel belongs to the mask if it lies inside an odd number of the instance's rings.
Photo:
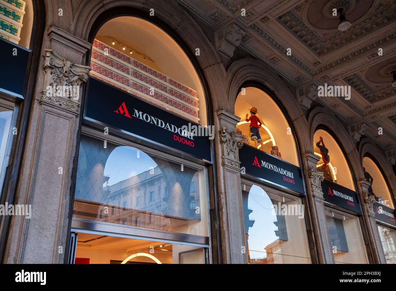
<svg viewBox="0 0 396 291">
<path fill-rule="evenodd" d="M 52 6 L 53 11 L 55 11 L 58 9 L 59 4 L 52 1 Z M 113 17 L 121 15 L 141 17 L 159 26 L 181 45 L 196 67 L 204 83 L 206 102 L 209 105 L 208 108 L 212 106 L 212 110 L 217 110 L 226 107 L 225 89 L 223 88 L 223 84 L 218 82 L 219 79 L 225 80 L 226 75 L 220 57 L 201 27 L 179 5 L 169 5 L 169 3 L 164 1 L 153 0 L 114 0 L 106 1 L 104 4 L 103 2 L 83 0 L 75 5 L 68 1 L 61 6 L 64 6 L 62 7 L 64 14 L 66 10 L 68 15 L 72 15 L 70 16 L 72 18 L 70 21 L 72 25 L 68 26 L 65 19 L 55 17 L 55 15 L 51 15 L 49 23 L 53 23 L 88 42 L 90 41 L 91 31 L 95 29 L 95 26 L 96 28 L 101 26 L 97 23 L 97 19 L 111 13 L 114 13 Z M 152 7 L 155 16 L 150 18 L 149 10 L 145 11 L 146 8 L 142 10 L 143 6 Z M 117 13 L 118 15 L 116 15 Z M 195 55 L 196 48 L 200 49 L 200 56 Z M 86 57 L 87 60 L 88 56 Z M 212 110 L 208 110 L 209 117 L 212 115 L 210 112 Z"/>
</svg>

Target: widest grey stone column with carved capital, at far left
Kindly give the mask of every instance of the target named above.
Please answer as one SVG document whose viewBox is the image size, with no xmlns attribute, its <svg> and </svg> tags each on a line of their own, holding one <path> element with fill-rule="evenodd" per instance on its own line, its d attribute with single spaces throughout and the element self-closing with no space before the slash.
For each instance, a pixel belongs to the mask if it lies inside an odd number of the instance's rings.
<svg viewBox="0 0 396 291">
<path fill-rule="evenodd" d="M 11 219 L 8 263 L 63 263 L 66 253 L 80 86 L 90 70 L 78 63 L 90 44 L 52 26 L 44 46 L 50 49 L 40 61 L 15 197 L 15 204 L 31 205 L 31 217 Z"/>
</svg>

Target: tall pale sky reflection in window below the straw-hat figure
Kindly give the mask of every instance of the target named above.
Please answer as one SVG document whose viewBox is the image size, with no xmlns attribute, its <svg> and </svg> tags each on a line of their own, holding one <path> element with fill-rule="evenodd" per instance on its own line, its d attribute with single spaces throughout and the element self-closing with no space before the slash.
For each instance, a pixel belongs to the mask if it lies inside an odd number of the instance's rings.
<svg viewBox="0 0 396 291">
<path fill-rule="evenodd" d="M 263 259 L 267 257 L 264 247 L 278 239 L 274 232 L 278 228 L 273 223 L 276 216 L 272 215 L 272 202 L 262 188 L 253 185 L 249 191 L 247 207 L 253 210 L 249 219 L 255 221 L 248 232 L 250 259 Z"/>
</svg>

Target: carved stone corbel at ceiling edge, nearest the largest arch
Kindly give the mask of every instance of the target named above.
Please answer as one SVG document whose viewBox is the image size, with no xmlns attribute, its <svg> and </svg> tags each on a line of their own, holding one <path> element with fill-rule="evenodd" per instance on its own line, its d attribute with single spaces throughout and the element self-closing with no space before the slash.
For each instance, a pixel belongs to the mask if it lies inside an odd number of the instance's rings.
<svg viewBox="0 0 396 291">
<path fill-rule="evenodd" d="M 241 43 L 245 36 L 245 30 L 235 23 L 220 29 L 216 32 L 216 49 L 228 59 L 234 54 L 234 50 Z"/>
</svg>

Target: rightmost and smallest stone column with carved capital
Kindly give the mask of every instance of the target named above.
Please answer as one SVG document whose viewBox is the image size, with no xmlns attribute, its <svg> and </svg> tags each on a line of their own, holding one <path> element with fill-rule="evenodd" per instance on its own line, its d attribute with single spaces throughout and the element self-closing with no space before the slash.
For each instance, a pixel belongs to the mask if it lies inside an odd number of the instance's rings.
<svg viewBox="0 0 396 291">
<path fill-rule="evenodd" d="M 381 239 L 379 237 L 377 222 L 375 221 L 375 213 L 373 205 L 375 204 L 375 196 L 369 193 L 370 183 L 366 180 L 359 181 L 362 190 L 362 211 L 366 220 L 367 233 L 370 242 L 371 253 L 375 264 L 386 264 L 385 255 L 382 248 Z"/>
</svg>

